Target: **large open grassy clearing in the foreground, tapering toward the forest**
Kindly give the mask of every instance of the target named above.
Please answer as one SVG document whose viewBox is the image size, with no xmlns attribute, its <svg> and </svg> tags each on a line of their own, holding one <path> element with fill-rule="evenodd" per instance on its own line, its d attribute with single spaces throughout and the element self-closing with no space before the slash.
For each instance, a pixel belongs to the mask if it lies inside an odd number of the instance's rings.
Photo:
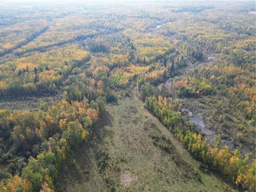
<svg viewBox="0 0 256 192">
<path fill-rule="evenodd" d="M 93 139 L 63 165 L 57 191 L 233 191 L 201 172 L 136 96 L 107 110 Z"/>
</svg>

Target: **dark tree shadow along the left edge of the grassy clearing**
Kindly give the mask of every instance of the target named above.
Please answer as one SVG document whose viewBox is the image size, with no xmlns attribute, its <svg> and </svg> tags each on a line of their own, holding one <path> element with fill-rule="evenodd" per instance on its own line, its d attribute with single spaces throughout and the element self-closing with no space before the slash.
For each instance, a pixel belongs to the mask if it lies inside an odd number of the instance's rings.
<svg viewBox="0 0 256 192">
<path fill-rule="evenodd" d="M 111 125 L 111 115 L 106 112 L 95 123 L 90 131 L 88 140 L 75 148 L 60 167 L 54 184 L 55 191 L 67 191 L 68 186 L 74 186 L 75 183 L 88 182 L 90 180 L 91 172 L 94 168 L 94 158 L 100 151 L 99 146 L 106 136 L 106 126 Z"/>
</svg>

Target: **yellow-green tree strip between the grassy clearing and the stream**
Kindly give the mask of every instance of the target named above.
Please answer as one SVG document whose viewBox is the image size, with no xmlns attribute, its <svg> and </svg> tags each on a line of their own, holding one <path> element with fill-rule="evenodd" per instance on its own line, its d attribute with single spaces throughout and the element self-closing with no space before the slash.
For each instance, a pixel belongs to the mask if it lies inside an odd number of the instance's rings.
<svg viewBox="0 0 256 192">
<path fill-rule="evenodd" d="M 158 117 L 167 128 L 184 144 L 202 167 L 224 175 L 229 181 L 244 190 L 255 190 L 255 160 L 251 154 L 245 158 L 238 150 L 231 153 L 227 146 L 221 147 L 220 140 L 211 146 L 200 134 L 191 132 L 188 118 L 179 112 L 182 104 L 172 98 L 162 96 L 146 97 L 145 108 Z"/>
</svg>

